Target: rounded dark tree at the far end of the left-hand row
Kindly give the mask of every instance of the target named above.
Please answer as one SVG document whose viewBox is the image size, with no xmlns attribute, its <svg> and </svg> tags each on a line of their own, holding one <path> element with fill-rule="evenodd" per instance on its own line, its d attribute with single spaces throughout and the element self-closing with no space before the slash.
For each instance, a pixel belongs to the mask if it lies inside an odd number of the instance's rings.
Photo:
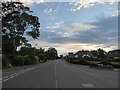
<svg viewBox="0 0 120 90">
<path fill-rule="evenodd" d="M 46 57 L 48 59 L 56 59 L 58 57 L 57 55 L 57 50 L 55 48 L 49 48 L 47 51 L 46 51 Z"/>
</svg>

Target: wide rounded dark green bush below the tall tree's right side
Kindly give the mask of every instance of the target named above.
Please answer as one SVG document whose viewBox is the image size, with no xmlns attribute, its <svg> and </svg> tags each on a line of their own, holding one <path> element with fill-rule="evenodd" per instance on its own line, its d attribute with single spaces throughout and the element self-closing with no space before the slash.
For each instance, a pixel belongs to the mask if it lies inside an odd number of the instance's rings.
<svg viewBox="0 0 120 90">
<path fill-rule="evenodd" d="M 14 66 L 22 66 L 22 65 L 24 65 L 24 57 L 21 56 L 21 55 L 15 56 L 13 61 L 12 61 L 12 64 Z"/>
</svg>

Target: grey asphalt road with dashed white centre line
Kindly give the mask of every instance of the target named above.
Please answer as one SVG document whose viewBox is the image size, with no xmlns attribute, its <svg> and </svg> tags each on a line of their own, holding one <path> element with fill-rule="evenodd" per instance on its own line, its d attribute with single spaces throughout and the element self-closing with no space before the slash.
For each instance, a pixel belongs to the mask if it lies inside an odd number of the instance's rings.
<svg viewBox="0 0 120 90">
<path fill-rule="evenodd" d="M 4 74 L 3 88 L 117 88 L 118 72 L 53 60 Z"/>
</svg>

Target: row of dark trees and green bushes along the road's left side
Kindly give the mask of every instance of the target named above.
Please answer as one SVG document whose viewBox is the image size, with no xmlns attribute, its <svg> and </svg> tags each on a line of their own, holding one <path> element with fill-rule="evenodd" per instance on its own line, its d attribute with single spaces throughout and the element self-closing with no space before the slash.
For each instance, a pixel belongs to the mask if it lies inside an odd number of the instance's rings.
<svg viewBox="0 0 120 90">
<path fill-rule="evenodd" d="M 21 47 L 15 54 L 3 54 L 2 66 L 3 68 L 11 68 L 12 66 L 40 64 L 57 57 L 57 50 L 52 47 L 47 51 L 43 48 Z"/>
</svg>

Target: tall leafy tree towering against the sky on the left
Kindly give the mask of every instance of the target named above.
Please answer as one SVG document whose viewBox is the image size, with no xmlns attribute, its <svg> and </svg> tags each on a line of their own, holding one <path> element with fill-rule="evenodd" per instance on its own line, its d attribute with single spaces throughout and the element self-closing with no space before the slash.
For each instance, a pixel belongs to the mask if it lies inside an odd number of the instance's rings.
<svg viewBox="0 0 120 90">
<path fill-rule="evenodd" d="M 39 19 L 29 7 L 21 2 L 2 3 L 2 49 L 3 54 L 14 53 L 18 46 L 26 45 L 26 35 L 33 39 L 40 36 Z"/>
</svg>

